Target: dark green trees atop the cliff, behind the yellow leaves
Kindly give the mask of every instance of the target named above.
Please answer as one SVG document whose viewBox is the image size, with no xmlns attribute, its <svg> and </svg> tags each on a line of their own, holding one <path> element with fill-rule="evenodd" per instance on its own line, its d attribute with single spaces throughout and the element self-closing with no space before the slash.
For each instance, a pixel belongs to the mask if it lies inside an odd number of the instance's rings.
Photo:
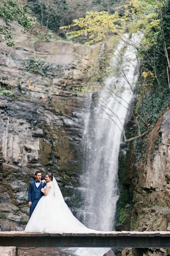
<svg viewBox="0 0 170 256">
<path fill-rule="evenodd" d="M 81 0 L 28 0 L 28 6 L 41 26 L 62 36 L 65 32 L 59 31 L 60 26 L 69 25 L 72 20 L 84 17 L 89 10 L 112 13 L 115 4 L 118 3 L 119 0 L 84 0 L 83 4 Z"/>
</svg>

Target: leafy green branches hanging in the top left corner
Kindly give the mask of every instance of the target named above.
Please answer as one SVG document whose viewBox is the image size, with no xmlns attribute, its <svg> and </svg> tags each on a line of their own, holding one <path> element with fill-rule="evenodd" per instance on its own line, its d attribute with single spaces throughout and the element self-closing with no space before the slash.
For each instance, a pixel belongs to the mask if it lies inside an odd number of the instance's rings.
<svg viewBox="0 0 170 256">
<path fill-rule="evenodd" d="M 0 43 L 6 42 L 8 46 L 14 46 L 14 26 L 19 25 L 25 31 L 35 32 L 38 38 L 49 41 L 51 33 L 45 35 L 36 29 L 36 20 L 29 17 L 30 10 L 26 6 L 20 6 L 13 0 L 0 1 Z"/>
</svg>

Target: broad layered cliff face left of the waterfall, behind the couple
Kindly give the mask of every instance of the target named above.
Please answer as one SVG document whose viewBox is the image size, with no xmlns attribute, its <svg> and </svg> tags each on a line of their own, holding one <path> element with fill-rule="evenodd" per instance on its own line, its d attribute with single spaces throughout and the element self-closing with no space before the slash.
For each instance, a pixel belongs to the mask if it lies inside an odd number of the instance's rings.
<svg viewBox="0 0 170 256">
<path fill-rule="evenodd" d="M 79 203 L 82 108 L 72 87 L 88 79 L 98 47 L 64 41 L 1 46 L 1 230 L 22 230 L 28 221 L 28 183 L 39 170 L 53 172 L 70 207 Z M 10 224 L 15 221 L 18 224 Z"/>
</svg>

